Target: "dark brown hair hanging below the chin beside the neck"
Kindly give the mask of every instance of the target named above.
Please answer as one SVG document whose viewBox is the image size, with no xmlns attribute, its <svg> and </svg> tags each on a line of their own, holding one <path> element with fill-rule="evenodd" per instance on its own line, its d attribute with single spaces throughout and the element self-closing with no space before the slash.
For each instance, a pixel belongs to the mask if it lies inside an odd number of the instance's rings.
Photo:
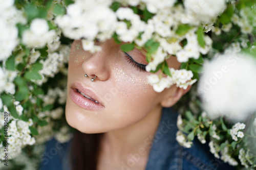
<svg viewBox="0 0 256 170">
<path fill-rule="evenodd" d="M 100 151 L 100 139 L 103 133 L 74 133 L 71 140 L 69 160 L 72 170 L 97 170 L 97 160 Z"/>
</svg>

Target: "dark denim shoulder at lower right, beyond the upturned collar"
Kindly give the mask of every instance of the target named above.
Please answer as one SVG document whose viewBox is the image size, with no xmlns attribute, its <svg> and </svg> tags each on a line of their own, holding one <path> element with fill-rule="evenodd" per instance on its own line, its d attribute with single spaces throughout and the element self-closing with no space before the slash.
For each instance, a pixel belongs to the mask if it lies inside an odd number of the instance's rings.
<svg viewBox="0 0 256 170">
<path fill-rule="evenodd" d="M 231 170 L 234 167 L 216 158 L 210 153 L 208 144 L 202 144 L 195 138 L 191 148 L 183 149 L 183 169 Z"/>
</svg>

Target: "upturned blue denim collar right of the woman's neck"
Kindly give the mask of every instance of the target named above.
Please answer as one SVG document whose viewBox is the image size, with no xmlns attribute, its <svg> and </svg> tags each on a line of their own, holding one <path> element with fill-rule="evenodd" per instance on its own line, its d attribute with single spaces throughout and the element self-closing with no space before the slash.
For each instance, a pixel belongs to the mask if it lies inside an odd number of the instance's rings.
<svg viewBox="0 0 256 170">
<path fill-rule="evenodd" d="M 178 113 L 162 108 L 161 120 L 155 133 L 146 170 L 182 169 L 182 148 L 176 141 Z"/>
</svg>

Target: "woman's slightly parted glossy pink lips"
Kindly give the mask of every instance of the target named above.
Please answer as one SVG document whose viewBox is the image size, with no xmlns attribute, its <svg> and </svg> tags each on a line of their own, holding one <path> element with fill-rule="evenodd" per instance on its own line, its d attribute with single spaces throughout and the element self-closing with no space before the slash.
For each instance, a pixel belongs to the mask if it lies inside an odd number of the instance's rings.
<svg viewBox="0 0 256 170">
<path fill-rule="evenodd" d="M 85 98 L 77 90 L 90 96 L 91 98 L 93 98 L 95 101 L 97 101 L 99 103 L 95 103 L 95 102 L 91 101 L 90 99 Z M 102 109 L 104 109 L 104 106 L 102 105 L 102 102 L 100 101 L 98 96 L 90 89 L 84 88 L 78 82 L 72 83 L 69 95 L 70 95 L 71 100 L 75 104 L 77 104 L 78 106 L 80 106 L 84 109 L 87 109 L 87 110 L 102 110 Z"/>
</svg>

